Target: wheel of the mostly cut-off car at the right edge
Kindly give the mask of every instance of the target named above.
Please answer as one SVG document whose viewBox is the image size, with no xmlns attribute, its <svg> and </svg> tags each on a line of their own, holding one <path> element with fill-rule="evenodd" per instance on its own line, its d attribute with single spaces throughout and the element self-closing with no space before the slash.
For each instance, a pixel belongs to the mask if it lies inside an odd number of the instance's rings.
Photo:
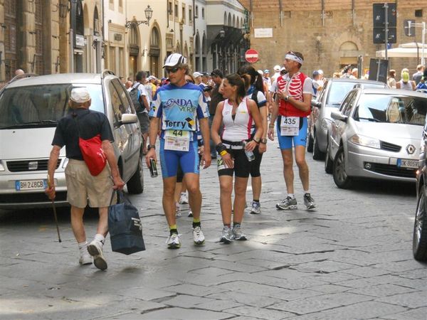
<svg viewBox="0 0 427 320">
<path fill-rule="evenodd" d="M 413 224 L 412 252 L 418 261 L 427 261 L 427 209 L 426 186 L 418 193 L 415 223 Z"/>
</svg>

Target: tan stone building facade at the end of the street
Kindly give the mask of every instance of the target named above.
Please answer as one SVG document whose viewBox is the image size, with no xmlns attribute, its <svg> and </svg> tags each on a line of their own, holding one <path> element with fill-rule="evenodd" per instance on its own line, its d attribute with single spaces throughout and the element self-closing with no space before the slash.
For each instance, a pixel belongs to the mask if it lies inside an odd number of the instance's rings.
<svg viewBox="0 0 427 320">
<path fill-rule="evenodd" d="M 302 70 L 310 74 L 322 69 L 325 75 L 344 65 L 357 65 L 363 58 L 363 68 L 376 58 L 376 50 L 384 44 L 373 43 L 373 6 L 377 0 L 241 0 L 250 11 L 251 48 L 258 50 L 260 60 L 256 69 L 273 68 L 283 63 L 284 54 L 295 50 L 305 56 Z M 404 20 L 416 23 L 427 20 L 427 1 L 388 1 L 396 3 L 397 47 L 400 43 L 421 42 L 421 29 L 415 38 L 404 35 Z M 272 28 L 273 37 L 255 38 L 255 28 Z M 409 68 L 415 72 L 416 58 L 390 58 L 390 66 L 398 71 Z"/>
</svg>

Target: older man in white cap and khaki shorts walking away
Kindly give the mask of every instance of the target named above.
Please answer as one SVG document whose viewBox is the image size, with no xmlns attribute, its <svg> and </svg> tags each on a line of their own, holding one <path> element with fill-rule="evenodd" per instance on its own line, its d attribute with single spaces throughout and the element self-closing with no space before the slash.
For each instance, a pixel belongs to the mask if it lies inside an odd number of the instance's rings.
<svg viewBox="0 0 427 320">
<path fill-rule="evenodd" d="M 90 265 L 93 257 L 95 267 L 105 270 L 107 261 L 102 248 L 108 233 L 108 207 L 112 189 L 121 190 L 125 182 L 120 178 L 117 159 L 112 148 L 111 142 L 114 142 L 114 138 L 110 123 L 105 114 L 89 110 L 90 102 L 90 95 L 85 87 L 75 87 L 71 90 L 68 103 L 70 111 L 58 122 L 53 137 L 53 148 L 48 161 L 48 177 L 50 181 L 55 181 L 59 151 L 65 146 L 65 154 L 69 159 L 65 168 L 67 201 L 71 205 L 71 228 L 78 242 L 79 262 L 80 265 Z M 83 161 L 78 142 L 79 137 L 90 139 L 97 134 L 100 134 L 102 150 L 108 165 L 100 174 L 92 176 Z M 54 185 L 48 186 L 45 192 L 50 199 L 55 198 Z M 83 225 L 83 214 L 88 204 L 91 208 L 98 208 L 100 215 L 95 238 L 89 245 L 86 241 L 85 225 Z"/>
</svg>

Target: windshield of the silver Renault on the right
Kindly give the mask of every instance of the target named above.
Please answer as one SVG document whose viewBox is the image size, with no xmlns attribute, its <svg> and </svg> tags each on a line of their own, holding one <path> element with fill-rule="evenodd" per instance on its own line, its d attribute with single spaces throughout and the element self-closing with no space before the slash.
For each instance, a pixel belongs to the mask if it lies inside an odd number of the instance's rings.
<svg viewBox="0 0 427 320">
<path fill-rule="evenodd" d="M 427 98 L 410 95 L 362 95 L 354 113 L 361 122 L 388 122 L 424 125 Z"/>
</svg>

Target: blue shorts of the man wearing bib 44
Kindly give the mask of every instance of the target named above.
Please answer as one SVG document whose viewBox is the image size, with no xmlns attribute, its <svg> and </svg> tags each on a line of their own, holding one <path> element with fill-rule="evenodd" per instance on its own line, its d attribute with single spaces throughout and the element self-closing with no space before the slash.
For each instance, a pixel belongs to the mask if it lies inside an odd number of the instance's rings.
<svg viewBox="0 0 427 320">
<path fill-rule="evenodd" d="M 189 151 L 164 150 L 164 139 L 160 138 L 160 165 L 163 178 L 176 176 L 178 164 L 184 174 L 199 174 L 199 152 L 197 140 L 191 141 Z"/>
</svg>

